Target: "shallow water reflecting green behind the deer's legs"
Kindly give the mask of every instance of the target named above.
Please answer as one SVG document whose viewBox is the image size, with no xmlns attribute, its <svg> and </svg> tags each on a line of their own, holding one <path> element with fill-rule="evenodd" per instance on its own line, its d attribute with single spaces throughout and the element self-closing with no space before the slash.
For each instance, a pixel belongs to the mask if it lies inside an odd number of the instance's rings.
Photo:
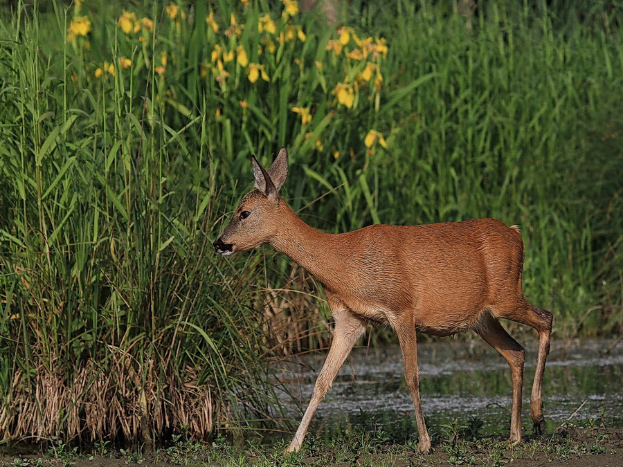
<svg viewBox="0 0 623 467">
<path fill-rule="evenodd" d="M 623 343 L 604 354 L 613 343 L 552 340 L 543 381 L 548 432 L 570 416 L 580 426 L 604 423 L 623 427 Z M 536 346 L 525 347 L 522 425 L 524 432 L 530 433 Z M 320 351 L 282 365 L 282 400 L 292 418 L 300 417 L 298 407 L 304 410 L 307 406 L 325 355 L 326 351 Z M 491 347 L 479 340 L 422 342 L 418 345 L 418 363 L 422 407 L 431 431 L 455 417 L 463 422 L 477 417 L 484 422 L 483 434 L 508 433 L 511 375 L 506 361 Z M 362 423 L 399 437 L 417 432 L 397 346 L 354 349 L 320 403 L 310 430 L 330 434 Z"/>
</svg>

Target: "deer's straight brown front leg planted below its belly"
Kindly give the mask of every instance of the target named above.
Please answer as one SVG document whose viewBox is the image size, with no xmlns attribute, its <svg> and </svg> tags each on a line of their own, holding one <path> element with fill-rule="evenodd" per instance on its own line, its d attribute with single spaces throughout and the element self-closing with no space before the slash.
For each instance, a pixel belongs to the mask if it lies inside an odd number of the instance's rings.
<svg viewBox="0 0 623 467">
<path fill-rule="evenodd" d="M 413 399 L 415 408 L 415 421 L 417 421 L 417 434 L 419 437 L 419 451 L 426 454 L 431 450 L 431 438 L 426 430 L 422 404 L 419 402 L 419 369 L 417 368 L 417 339 L 413 322 L 396 323 L 394 325 L 404 364 L 404 378 Z"/>
</svg>

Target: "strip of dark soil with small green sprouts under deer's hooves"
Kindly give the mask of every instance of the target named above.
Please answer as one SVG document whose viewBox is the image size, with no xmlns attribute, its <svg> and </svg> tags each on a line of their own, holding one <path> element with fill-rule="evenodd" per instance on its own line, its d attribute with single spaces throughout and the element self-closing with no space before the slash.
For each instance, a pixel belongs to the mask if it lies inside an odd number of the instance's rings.
<svg viewBox="0 0 623 467">
<path fill-rule="evenodd" d="M 364 437 L 365 438 L 365 437 Z M 312 441 L 303 452 L 282 457 L 283 446 L 257 445 L 233 448 L 226 443 L 178 443 L 177 446 L 143 454 L 72 455 L 64 452 L 58 457 L 42 453 L 26 454 L 14 450 L 0 455 L 0 466 L 552 466 L 604 467 L 623 465 L 623 429 L 559 430 L 555 435 L 528 437 L 518 446 L 505 445 L 496 437 L 480 437 L 473 441 L 458 440 L 433 443 L 430 455 L 415 452 L 415 445 L 400 445 L 378 439 L 358 437 L 338 441 Z M 19 448 L 23 450 L 23 448 Z M 50 451 L 48 451 L 50 452 Z"/>
</svg>

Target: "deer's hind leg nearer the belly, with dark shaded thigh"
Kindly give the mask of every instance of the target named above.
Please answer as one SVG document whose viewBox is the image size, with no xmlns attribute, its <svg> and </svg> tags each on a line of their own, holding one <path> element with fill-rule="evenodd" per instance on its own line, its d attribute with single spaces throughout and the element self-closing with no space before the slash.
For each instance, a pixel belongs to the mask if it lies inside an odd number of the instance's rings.
<svg viewBox="0 0 623 467">
<path fill-rule="evenodd" d="M 525 350 L 509 336 L 502 324 L 488 313 L 480 318 L 480 322 L 474 331 L 505 358 L 511 369 L 513 405 L 509 441 L 516 444 L 521 441 L 521 390 L 523 387 Z"/>
</svg>

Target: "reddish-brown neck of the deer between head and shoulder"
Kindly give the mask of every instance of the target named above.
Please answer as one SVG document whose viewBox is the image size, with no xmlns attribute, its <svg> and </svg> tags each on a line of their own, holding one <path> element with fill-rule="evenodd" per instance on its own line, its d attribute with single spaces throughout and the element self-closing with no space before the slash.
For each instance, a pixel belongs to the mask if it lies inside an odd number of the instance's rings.
<svg viewBox="0 0 623 467">
<path fill-rule="evenodd" d="M 336 290 L 337 273 L 344 269 L 340 235 L 307 225 L 289 207 L 284 220 L 284 228 L 271 240 L 271 246 L 294 259 L 329 290 Z"/>
</svg>

